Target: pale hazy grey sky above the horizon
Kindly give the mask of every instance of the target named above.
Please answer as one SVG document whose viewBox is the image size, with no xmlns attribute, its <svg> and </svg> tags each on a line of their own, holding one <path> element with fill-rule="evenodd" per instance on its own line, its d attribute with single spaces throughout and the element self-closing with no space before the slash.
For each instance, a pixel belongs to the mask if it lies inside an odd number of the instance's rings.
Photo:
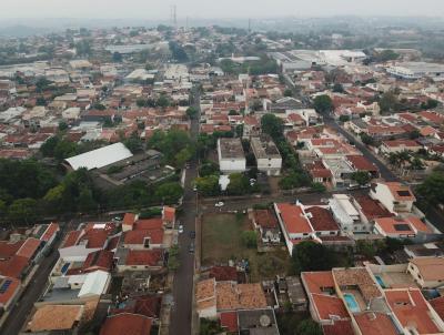
<svg viewBox="0 0 444 335">
<path fill-rule="evenodd" d="M 178 18 L 435 16 L 444 0 L 0 0 L 0 18 Z"/>
</svg>

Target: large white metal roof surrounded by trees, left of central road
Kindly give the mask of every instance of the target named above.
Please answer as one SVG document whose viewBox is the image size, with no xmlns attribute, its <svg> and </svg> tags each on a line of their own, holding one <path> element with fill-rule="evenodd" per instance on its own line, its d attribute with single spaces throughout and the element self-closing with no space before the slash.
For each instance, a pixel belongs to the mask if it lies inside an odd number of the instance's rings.
<svg viewBox="0 0 444 335">
<path fill-rule="evenodd" d="M 129 151 L 123 143 L 119 142 L 67 159 L 67 162 L 73 170 L 79 170 L 80 168 L 92 170 L 107 166 L 131 156 L 131 151 Z"/>
</svg>

